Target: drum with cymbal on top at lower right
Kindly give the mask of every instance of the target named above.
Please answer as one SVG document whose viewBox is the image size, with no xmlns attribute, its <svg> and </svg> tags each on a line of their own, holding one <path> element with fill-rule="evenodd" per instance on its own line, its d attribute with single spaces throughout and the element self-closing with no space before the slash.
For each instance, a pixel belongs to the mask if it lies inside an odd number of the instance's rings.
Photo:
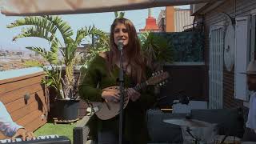
<svg viewBox="0 0 256 144">
<path fill-rule="evenodd" d="M 216 124 L 202 122 L 196 119 L 164 119 L 163 122 L 178 125 L 182 128 L 183 143 L 210 143 L 217 134 Z M 192 142 L 190 141 L 192 139 Z"/>
</svg>

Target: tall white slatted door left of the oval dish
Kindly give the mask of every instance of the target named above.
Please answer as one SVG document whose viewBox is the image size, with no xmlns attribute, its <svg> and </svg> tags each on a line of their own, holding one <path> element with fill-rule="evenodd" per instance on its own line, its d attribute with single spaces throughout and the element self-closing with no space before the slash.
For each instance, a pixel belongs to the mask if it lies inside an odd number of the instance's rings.
<svg viewBox="0 0 256 144">
<path fill-rule="evenodd" d="M 223 106 L 224 24 L 210 26 L 209 108 Z"/>
</svg>

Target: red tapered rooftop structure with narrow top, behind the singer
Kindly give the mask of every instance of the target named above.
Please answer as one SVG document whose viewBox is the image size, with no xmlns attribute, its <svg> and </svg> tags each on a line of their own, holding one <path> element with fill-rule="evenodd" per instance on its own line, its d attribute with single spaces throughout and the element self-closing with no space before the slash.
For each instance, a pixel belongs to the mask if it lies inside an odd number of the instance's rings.
<svg viewBox="0 0 256 144">
<path fill-rule="evenodd" d="M 154 17 L 152 17 L 151 15 L 151 8 L 148 9 L 149 13 L 148 13 L 148 18 L 146 18 L 146 26 L 144 27 L 144 29 L 140 29 L 139 32 L 146 32 L 146 31 L 152 31 L 152 32 L 159 32 L 161 31 L 156 23 L 156 19 Z"/>
</svg>

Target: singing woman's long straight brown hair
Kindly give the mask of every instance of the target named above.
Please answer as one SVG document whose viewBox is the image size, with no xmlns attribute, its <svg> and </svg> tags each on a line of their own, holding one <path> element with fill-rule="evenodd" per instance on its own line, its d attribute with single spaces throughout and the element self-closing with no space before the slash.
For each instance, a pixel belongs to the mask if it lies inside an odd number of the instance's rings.
<svg viewBox="0 0 256 144">
<path fill-rule="evenodd" d="M 141 45 L 138 40 L 138 35 L 136 33 L 136 29 L 134 24 L 130 22 L 129 19 L 126 18 L 116 18 L 111 25 L 110 29 L 110 53 L 107 56 L 107 61 L 109 63 L 110 70 L 113 69 L 115 65 L 115 61 L 118 60 L 117 55 L 119 53 L 118 46 L 114 43 L 114 28 L 118 24 L 124 24 L 126 29 L 128 30 L 129 42 L 127 45 L 127 58 L 128 62 L 131 66 L 131 76 L 135 82 L 139 83 L 142 80 L 145 80 L 145 62 L 144 58 L 142 58 L 141 54 Z"/>
</svg>

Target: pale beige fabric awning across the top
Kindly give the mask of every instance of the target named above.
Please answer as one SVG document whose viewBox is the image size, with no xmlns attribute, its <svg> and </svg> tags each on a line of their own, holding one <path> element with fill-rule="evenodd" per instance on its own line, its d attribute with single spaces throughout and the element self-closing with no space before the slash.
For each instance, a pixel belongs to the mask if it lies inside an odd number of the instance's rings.
<svg viewBox="0 0 256 144">
<path fill-rule="evenodd" d="M 86 14 L 179 6 L 218 0 L 0 0 L 1 13 L 10 16 Z"/>
</svg>

